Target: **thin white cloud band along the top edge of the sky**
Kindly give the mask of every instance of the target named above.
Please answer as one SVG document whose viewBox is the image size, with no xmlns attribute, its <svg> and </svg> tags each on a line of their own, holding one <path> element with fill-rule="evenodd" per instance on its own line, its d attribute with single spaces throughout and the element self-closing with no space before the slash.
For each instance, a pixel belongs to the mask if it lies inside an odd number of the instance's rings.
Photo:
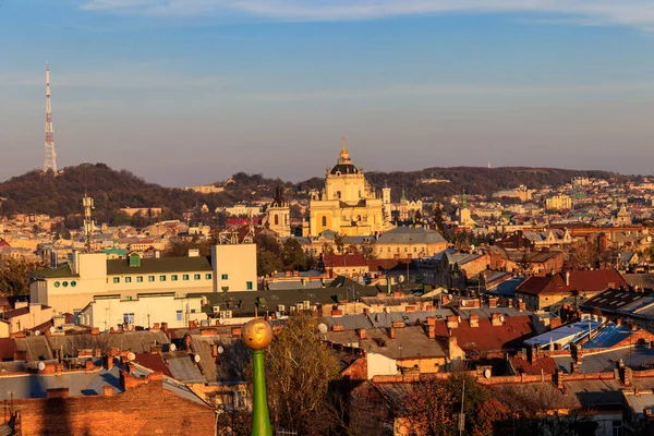
<svg viewBox="0 0 654 436">
<path fill-rule="evenodd" d="M 654 29 L 651 0 L 85 0 L 85 10 L 113 13 L 251 16 L 283 21 L 354 21 L 441 13 L 564 14 L 584 24 Z"/>
</svg>

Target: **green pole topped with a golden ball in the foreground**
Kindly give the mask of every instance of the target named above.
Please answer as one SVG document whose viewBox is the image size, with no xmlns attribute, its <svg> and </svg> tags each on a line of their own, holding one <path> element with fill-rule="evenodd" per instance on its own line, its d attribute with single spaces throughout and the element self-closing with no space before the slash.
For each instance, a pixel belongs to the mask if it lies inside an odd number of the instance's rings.
<svg viewBox="0 0 654 436">
<path fill-rule="evenodd" d="M 243 326 L 243 341 L 252 350 L 253 364 L 253 402 L 252 436 L 272 436 L 268 398 L 266 397 L 266 370 L 264 349 L 272 341 L 272 328 L 264 319 L 252 319 Z"/>
</svg>

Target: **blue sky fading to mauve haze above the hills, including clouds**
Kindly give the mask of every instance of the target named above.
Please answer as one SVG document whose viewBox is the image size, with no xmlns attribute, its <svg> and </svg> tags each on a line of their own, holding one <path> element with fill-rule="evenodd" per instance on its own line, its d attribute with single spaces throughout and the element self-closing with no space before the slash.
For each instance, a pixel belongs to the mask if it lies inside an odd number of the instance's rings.
<svg viewBox="0 0 654 436">
<path fill-rule="evenodd" d="M 364 170 L 652 174 L 651 0 L 0 0 L 0 180 Z"/>
</svg>

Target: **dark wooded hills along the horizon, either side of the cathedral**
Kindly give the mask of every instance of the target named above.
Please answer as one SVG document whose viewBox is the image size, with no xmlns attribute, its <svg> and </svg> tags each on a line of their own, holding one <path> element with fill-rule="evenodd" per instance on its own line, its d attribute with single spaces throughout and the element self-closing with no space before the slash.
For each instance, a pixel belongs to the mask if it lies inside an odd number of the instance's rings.
<svg viewBox="0 0 654 436">
<path fill-rule="evenodd" d="M 435 197 L 468 194 L 491 195 L 493 192 L 526 185 L 537 189 L 546 184 L 559 185 L 572 177 L 596 177 L 611 182 L 638 179 L 606 171 L 577 171 L 555 168 L 427 168 L 422 171 L 366 172 L 366 178 L 375 189 L 388 184 L 392 198 L 398 201 L 402 187 L 408 197 Z M 425 183 L 429 179 L 449 180 L 443 183 Z M 182 189 L 164 187 L 148 183 L 126 170 L 116 171 L 105 164 L 84 164 L 66 167 L 55 177 L 52 172 L 38 170 L 11 178 L 0 183 L 0 215 L 17 213 L 47 214 L 50 216 L 76 215 L 82 213 L 82 196 L 85 192 L 95 199 L 96 220 L 114 222 L 121 207 L 161 207 L 164 218 L 179 218 L 182 211 L 204 204 L 214 210 L 238 202 L 272 197 L 278 184 L 283 184 L 287 195 L 305 198 L 311 189 L 323 186 L 324 179 L 312 178 L 299 183 L 269 179 L 262 174 L 235 173 L 232 182 L 220 194 L 198 194 Z"/>
</svg>

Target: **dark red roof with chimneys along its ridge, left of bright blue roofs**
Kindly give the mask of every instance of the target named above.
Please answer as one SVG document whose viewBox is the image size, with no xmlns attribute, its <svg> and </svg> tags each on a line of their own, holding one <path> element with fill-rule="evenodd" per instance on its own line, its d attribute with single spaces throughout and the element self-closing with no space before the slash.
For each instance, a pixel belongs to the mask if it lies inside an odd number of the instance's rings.
<svg viewBox="0 0 654 436">
<path fill-rule="evenodd" d="M 470 327 L 469 319 L 461 319 L 459 326 L 451 329 L 451 336 L 457 338 L 461 349 L 480 352 L 518 348 L 534 332 L 530 316 L 506 316 L 500 326 L 493 326 L 489 318 L 480 317 L 479 327 Z M 449 337 L 446 322 L 436 322 L 436 336 Z"/>
</svg>

